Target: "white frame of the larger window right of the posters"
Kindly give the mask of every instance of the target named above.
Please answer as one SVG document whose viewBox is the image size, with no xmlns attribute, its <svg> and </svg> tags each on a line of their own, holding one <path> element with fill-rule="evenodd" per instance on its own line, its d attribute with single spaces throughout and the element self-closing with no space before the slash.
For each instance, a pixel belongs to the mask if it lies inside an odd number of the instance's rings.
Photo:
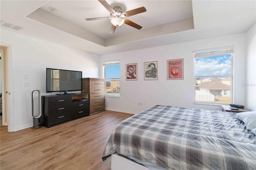
<svg viewBox="0 0 256 170">
<path fill-rule="evenodd" d="M 234 81 L 234 67 L 233 67 L 233 61 L 234 61 L 234 48 L 235 46 L 228 46 L 228 47 L 218 47 L 218 48 L 211 48 L 211 49 L 201 49 L 201 50 L 195 50 L 193 51 L 194 54 L 194 81 L 193 81 L 193 103 L 195 104 L 210 104 L 210 105 L 227 105 L 227 103 L 211 103 L 211 102 L 202 102 L 202 101 L 196 101 L 196 78 L 198 77 L 229 77 L 231 78 L 231 85 L 230 85 L 230 90 L 231 90 L 231 96 L 230 96 L 230 103 L 234 103 L 234 90 L 233 90 L 233 81 Z M 217 76 L 196 76 L 195 75 L 195 59 L 196 58 L 204 58 L 204 57 L 214 57 L 218 55 L 226 55 L 226 54 L 231 54 L 231 75 L 217 75 Z"/>
</svg>

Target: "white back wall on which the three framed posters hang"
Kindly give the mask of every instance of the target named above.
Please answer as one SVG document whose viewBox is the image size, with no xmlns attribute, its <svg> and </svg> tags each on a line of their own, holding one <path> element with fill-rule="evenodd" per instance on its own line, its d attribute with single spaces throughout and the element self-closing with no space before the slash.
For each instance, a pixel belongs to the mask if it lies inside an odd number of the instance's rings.
<svg viewBox="0 0 256 170">
<path fill-rule="evenodd" d="M 171 105 L 210 110 L 221 110 L 220 106 L 193 104 L 193 53 L 198 49 L 209 49 L 235 45 L 234 53 L 234 103 L 245 105 L 246 88 L 246 34 L 234 34 L 151 47 L 100 56 L 100 62 L 120 59 L 120 98 L 106 97 L 106 109 L 127 113 L 138 113 L 154 105 Z M 184 59 L 184 79 L 167 80 L 167 60 Z M 144 80 L 144 62 L 158 61 L 158 80 Z M 125 66 L 138 63 L 138 80 L 126 81 Z M 102 67 L 100 67 L 102 77 Z M 142 102 L 142 106 L 138 106 Z"/>
</svg>

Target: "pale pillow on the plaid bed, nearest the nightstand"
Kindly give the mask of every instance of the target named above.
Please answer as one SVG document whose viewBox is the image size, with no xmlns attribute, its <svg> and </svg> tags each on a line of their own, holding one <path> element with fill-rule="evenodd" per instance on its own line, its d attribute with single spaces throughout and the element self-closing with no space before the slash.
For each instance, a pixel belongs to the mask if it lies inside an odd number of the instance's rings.
<svg viewBox="0 0 256 170">
<path fill-rule="evenodd" d="M 256 128 L 256 111 L 240 112 L 236 115 L 236 117 L 244 122 L 248 130 Z"/>
</svg>

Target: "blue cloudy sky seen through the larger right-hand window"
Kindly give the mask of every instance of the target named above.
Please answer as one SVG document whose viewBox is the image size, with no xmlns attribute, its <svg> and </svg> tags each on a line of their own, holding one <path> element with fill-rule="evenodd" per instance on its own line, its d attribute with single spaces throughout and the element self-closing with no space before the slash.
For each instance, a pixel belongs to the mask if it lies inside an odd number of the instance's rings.
<svg viewBox="0 0 256 170">
<path fill-rule="evenodd" d="M 231 75 L 231 54 L 196 58 L 195 75 Z"/>
</svg>

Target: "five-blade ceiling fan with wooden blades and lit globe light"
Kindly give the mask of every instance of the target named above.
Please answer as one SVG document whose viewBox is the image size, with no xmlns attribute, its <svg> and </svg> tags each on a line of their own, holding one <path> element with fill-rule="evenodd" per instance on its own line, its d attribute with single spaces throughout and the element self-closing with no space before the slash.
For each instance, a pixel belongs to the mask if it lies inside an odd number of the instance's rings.
<svg viewBox="0 0 256 170">
<path fill-rule="evenodd" d="M 110 34 L 114 33 L 116 30 L 116 27 L 119 27 L 122 24 L 127 24 L 138 30 L 142 28 L 142 26 L 124 18 L 128 16 L 140 14 L 142 12 L 146 12 L 147 10 L 144 6 L 140 8 L 136 8 L 134 10 L 123 12 L 120 6 L 115 6 L 114 8 L 112 8 L 105 0 L 98 0 L 98 1 L 110 12 L 110 17 L 86 18 L 87 21 L 111 19 L 110 22 L 112 25 L 109 32 Z"/>
</svg>

